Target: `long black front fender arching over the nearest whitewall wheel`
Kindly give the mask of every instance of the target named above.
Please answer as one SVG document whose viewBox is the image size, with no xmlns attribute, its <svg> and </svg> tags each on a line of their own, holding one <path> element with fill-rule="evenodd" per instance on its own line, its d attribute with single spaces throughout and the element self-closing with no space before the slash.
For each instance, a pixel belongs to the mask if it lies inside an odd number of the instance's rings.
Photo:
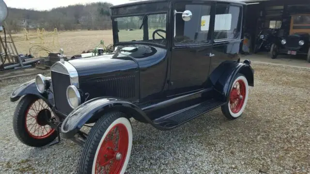
<svg viewBox="0 0 310 174">
<path fill-rule="evenodd" d="M 95 121 L 111 110 L 124 112 L 135 118 L 148 119 L 135 104 L 117 98 L 98 97 L 75 108 L 63 121 L 61 131 L 64 138 L 72 138 L 89 120 Z M 150 121 L 150 120 L 148 120 Z"/>
</svg>

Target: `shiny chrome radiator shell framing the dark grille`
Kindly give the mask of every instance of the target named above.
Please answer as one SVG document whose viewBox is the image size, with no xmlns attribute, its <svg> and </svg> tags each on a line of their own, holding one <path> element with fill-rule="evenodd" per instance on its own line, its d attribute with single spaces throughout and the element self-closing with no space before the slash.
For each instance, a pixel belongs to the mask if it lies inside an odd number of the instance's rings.
<svg viewBox="0 0 310 174">
<path fill-rule="evenodd" d="M 53 71 L 53 72 L 57 72 L 57 73 L 64 73 L 61 71 L 53 70 L 53 67 L 56 65 L 60 65 L 68 71 L 67 74 L 70 76 L 71 85 L 74 85 L 75 87 L 79 87 L 78 71 L 71 63 L 69 63 L 68 61 L 64 61 L 64 62 L 58 61 L 50 68 L 51 72 Z"/>
</svg>

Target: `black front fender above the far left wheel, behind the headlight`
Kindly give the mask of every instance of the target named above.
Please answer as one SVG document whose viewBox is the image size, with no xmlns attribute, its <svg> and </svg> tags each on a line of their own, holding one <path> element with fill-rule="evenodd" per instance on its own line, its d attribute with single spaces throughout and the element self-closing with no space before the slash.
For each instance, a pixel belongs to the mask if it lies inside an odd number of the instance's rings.
<svg viewBox="0 0 310 174">
<path fill-rule="evenodd" d="M 27 94 L 32 94 L 36 95 L 41 99 L 44 99 L 48 104 L 51 106 L 54 105 L 54 97 L 53 97 L 53 92 L 52 92 L 52 83 L 50 83 L 49 89 L 43 94 L 41 94 L 36 85 L 35 85 L 35 79 L 32 79 L 31 81 L 28 81 L 21 86 L 17 87 L 11 94 L 10 100 L 11 102 L 16 102 L 19 100 L 20 97 L 27 95 Z"/>
</svg>

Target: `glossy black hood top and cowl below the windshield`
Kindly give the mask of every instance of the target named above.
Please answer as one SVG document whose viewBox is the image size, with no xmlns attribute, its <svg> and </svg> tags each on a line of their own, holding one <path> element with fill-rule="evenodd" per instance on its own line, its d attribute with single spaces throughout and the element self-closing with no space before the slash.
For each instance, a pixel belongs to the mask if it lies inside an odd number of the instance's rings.
<svg viewBox="0 0 310 174">
<path fill-rule="evenodd" d="M 147 45 L 117 46 L 113 53 L 90 58 L 68 60 L 79 77 L 102 77 L 119 73 L 139 72 L 140 68 L 161 60 L 167 50 Z"/>
</svg>

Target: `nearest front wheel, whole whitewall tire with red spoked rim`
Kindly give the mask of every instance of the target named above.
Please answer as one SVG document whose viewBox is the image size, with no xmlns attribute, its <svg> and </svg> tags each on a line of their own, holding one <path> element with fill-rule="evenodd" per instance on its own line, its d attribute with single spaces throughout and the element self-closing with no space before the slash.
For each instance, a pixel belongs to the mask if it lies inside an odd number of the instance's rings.
<svg viewBox="0 0 310 174">
<path fill-rule="evenodd" d="M 125 116 L 108 113 L 95 123 L 84 145 L 78 174 L 124 174 L 132 147 L 131 123 Z"/>
</svg>

